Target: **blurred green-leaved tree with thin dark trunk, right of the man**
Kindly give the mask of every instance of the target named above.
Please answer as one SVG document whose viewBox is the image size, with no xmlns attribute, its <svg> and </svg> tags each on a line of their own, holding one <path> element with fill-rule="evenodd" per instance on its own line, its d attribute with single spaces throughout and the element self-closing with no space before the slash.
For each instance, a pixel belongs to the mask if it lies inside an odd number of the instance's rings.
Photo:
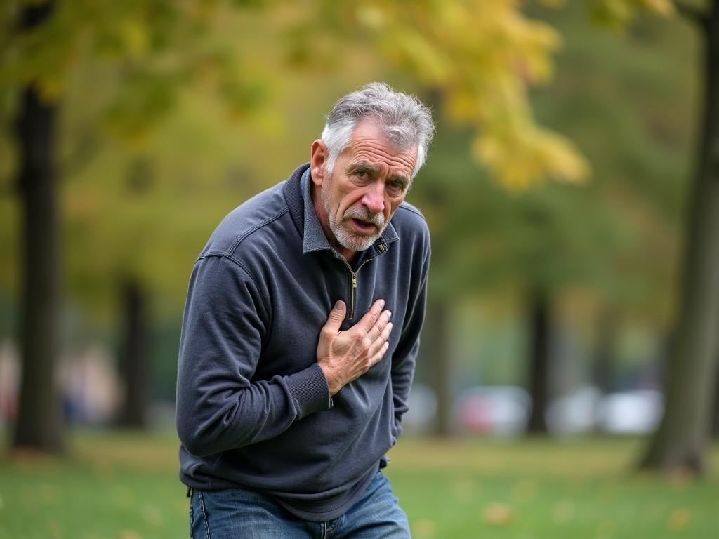
<svg viewBox="0 0 719 539">
<path fill-rule="evenodd" d="M 516 304 L 516 294 L 505 290 L 521 289 L 526 384 L 534 388 L 533 410 L 540 420 L 543 402 L 556 396 L 561 384 L 551 358 L 562 295 L 586 290 L 591 308 L 666 326 L 672 303 L 666 292 L 672 290 L 677 258 L 674 229 L 682 201 L 677 178 L 686 168 L 693 98 L 686 83 L 692 74 L 686 61 L 691 36 L 675 23 L 657 22 L 617 39 L 583 25 L 585 9 L 572 4 L 540 13 L 561 32 L 566 47 L 558 57 L 557 80 L 535 94 L 534 106 L 544 123 L 572 134 L 590 157 L 595 180 L 582 189 L 546 185 L 507 195 L 473 170 L 462 152 L 470 134 L 450 133 L 444 126 L 410 193 L 433 234 L 431 297 L 456 303 L 479 289 L 485 298 Z M 648 264 L 649 259 L 655 262 Z M 538 296 L 541 303 L 532 300 Z M 427 324 L 434 318 L 428 312 Z M 610 323 L 617 319 L 611 318 Z M 603 338 L 605 357 L 612 354 L 610 333 Z M 426 361 L 438 363 L 434 372 L 452 370 L 457 336 L 450 332 L 439 345 L 431 344 L 434 338 L 429 328 L 423 342 L 443 352 Z M 435 374 L 429 381 L 439 386 L 443 379 Z M 451 395 L 442 387 L 436 392 Z M 439 409 L 450 407 L 447 402 Z"/>
</svg>

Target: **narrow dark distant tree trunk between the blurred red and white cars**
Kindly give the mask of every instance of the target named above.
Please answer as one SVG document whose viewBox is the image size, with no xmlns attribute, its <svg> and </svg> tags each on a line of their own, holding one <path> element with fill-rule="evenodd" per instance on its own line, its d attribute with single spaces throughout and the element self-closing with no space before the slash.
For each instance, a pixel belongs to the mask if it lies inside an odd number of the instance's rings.
<svg viewBox="0 0 719 539">
<path fill-rule="evenodd" d="M 532 410 L 527 432 L 546 434 L 544 413 L 549 405 L 549 354 L 551 318 L 548 295 L 544 290 L 531 290 L 529 298 L 529 395 Z"/>
</svg>

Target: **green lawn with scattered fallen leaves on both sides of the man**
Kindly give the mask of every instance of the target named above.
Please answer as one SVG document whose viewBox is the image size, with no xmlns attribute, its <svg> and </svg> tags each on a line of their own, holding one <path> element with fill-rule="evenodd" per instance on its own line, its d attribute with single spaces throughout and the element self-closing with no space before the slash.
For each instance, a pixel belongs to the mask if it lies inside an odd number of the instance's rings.
<svg viewBox="0 0 719 539">
<path fill-rule="evenodd" d="M 387 474 L 413 537 L 715 539 L 719 447 L 708 479 L 635 474 L 638 441 L 403 438 Z M 170 433 L 84 432 L 69 459 L 0 461 L 0 538 L 188 537 Z"/>
</svg>

